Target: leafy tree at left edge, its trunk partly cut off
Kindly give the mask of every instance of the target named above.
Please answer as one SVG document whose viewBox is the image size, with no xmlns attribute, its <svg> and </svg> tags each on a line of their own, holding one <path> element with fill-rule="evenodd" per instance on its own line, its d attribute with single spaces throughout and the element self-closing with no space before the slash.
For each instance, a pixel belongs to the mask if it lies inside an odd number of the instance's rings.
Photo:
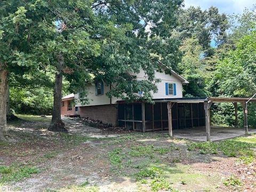
<svg viewBox="0 0 256 192">
<path fill-rule="evenodd" d="M 23 6 L 26 2 L 0 2 L 0 139 L 4 139 L 7 131 L 8 76 L 23 73 L 36 65 L 29 60 L 28 26 L 31 20 L 26 17 L 27 10 Z"/>
</svg>

